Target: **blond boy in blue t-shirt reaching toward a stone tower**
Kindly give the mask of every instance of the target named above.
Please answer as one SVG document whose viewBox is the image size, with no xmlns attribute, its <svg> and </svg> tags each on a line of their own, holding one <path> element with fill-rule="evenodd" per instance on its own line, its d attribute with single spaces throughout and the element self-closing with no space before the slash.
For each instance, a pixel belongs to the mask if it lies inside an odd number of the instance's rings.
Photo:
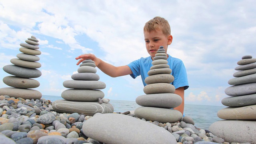
<svg viewBox="0 0 256 144">
<path fill-rule="evenodd" d="M 131 62 L 126 66 L 113 66 L 108 64 L 93 54 L 82 54 L 76 57 L 77 65 L 80 64 L 83 60 L 91 59 L 95 62 L 96 66 L 104 72 L 105 74 L 111 77 L 124 76 L 130 74 L 132 78 L 136 78 L 141 75 L 142 82 L 144 86 L 146 83 L 144 82 L 145 78 L 148 77 L 148 71 L 152 66 L 153 58 L 159 49 L 160 46 L 164 46 L 165 52 L 167 52 L 168 45 L 172 43 L 172 35 L 170 25 L 167 20 L 161 17 L 155 17 L 152 20 L 146 22 L 144 26 L 144 38 L 146 42 L 146 50 L 148 54 L 150 54 L 147 58 L 140 58 Z M 182 98 L 182 104 L 180 106 L 174 108 L 175 110 L 179 110 L 182 114 L 184 111 L 184 90 L 188 88 L 188 80 L 186 69 L 183 62 L 178 58 L 173 58 L 168 55 L 168 65 L 170 69 L 172 69 L 172 75 L 174 76 L 173 84 L 176 88 L 175 94 L 178 94 Z"/>
</svg>

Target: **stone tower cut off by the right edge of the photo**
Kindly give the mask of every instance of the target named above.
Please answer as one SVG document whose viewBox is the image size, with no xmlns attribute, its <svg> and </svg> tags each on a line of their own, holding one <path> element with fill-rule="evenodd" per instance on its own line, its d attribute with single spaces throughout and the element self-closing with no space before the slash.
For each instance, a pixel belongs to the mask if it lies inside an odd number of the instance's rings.
<svg viewBox="0 0 256 144">
<path fill-rule="evenodd" d="M 249 142 L 256 144 L 256 58 L 243 56 L 239 60 L 225 93 L 229 96 L 222 99 L 222 104 L 228 106 L 218 111 L 219 118 L 209 130 L 226 142 Z"/>
</svg>

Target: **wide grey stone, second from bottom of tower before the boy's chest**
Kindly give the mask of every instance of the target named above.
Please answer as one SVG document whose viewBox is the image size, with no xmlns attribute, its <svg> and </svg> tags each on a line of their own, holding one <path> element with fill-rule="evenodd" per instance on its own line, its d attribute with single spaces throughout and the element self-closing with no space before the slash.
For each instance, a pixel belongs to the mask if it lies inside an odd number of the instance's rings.
<svg viewBox="0 0 256 144">
<path fill-rule="evenodd" d="M 175 108 L 182 103 L 182 98 L 178 94 L 146 94 L 138 96 L 136 103 L 140 106 Z"/>
</svg>

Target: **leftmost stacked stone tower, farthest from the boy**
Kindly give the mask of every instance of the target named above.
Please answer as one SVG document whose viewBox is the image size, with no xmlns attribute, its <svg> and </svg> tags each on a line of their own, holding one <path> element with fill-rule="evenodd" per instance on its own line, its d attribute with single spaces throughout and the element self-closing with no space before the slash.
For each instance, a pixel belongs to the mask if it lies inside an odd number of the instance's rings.
<svg viewBox="0 0 256 144">
<path fill-rule="evenodd" d="M 17 54 L 17 58 L 10 60 L 11 65 L 6 65 L 3 70 L 13 76 L 6 76 L 3 78 L 3 82 L 11 86 L 12 88 L 0 88 L 0 95 L 8 95 L 14 98 L 23 99 L 40 99 L 42 97 L 41 92 L 32 90 L 30 88 L 37 88 L 40 83 L 37 80 L 31 78 L 38 78 L 42 75 L 40 70 L 41 64 L 36 62 L 40 58 L 36 55 L 40 55 L 38 40 L 36 37 L 31 36 L 25 43 L 21 43 L 20 54 Z"/>
</svg>

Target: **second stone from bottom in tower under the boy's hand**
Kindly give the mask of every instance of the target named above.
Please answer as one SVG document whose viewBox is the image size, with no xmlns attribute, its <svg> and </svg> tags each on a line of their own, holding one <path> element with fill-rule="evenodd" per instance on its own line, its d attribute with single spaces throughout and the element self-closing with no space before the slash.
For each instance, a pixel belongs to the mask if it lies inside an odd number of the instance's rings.
<svg viewBox="0 0 256 144">
<path fill-rule="evenodd" d="M 104 98 L 104 92 L 100 90 L 76 90 L 69 89 L 64 90 L 61 93 L 61 97 L 65 100 L 71 101 L 87 101 L 87 102 L 95 102 L 98 98 Z"/>
</svg>

